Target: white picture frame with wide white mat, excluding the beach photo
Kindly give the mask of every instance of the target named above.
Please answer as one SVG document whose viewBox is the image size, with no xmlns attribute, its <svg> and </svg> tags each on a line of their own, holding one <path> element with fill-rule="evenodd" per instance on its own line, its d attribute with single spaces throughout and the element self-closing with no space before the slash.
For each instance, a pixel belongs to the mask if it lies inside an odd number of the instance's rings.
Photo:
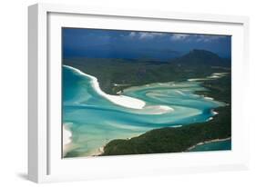
<svg viewBox="0 0 256 187">
<path fill-rule="evenodd" d="M 118 23 L 121 22 L 126 24 L 119 25 Z M 140 25 L 142 22 L 145 25 Z M 234 36 L 234 43 L 232 43 L 232 151 L 110 156 L 63 161 L 59 152 L 61 149 L 60 125 L 58 127 L 54 125 L 59 123 L 61 113 L 60 100 L 57 99 L 61 87 L 58 65 L 59 54 L 61 54 L 59 28 L 89 26 L 139 31 L 174 31 L 174 28 L 166 26 L 170 23 L 177 24 L 175 32 L 182 33 L 187 29 L 188 33 Z M 249 168 L 249 123 L 243 113 L 243 99 L 247 96 L 244 83 L 246 83 L 249 69 L 248 17 L 36 4 L 28 8 L 28 24 L 29 180 L 62 182 Z M 159 27 L 154 28 L 154 25 Z M 239 86 L 243 89 L 239 89 Z"/>
</svg>

